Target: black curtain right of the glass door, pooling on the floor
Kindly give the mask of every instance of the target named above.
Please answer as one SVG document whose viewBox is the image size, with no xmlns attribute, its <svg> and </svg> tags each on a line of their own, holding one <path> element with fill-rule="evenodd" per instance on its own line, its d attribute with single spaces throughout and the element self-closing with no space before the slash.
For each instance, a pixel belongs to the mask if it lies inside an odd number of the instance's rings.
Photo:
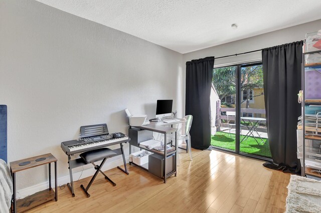
<svg viewBox="0 0 321 213">
<path fill-rule="evenodd" d="M 301 114 L 297 93 L 301 89 L 303 41 L 262 50 L 264 100 L 273 169 L 297 173 L 296 126 Z"/>
</svg>

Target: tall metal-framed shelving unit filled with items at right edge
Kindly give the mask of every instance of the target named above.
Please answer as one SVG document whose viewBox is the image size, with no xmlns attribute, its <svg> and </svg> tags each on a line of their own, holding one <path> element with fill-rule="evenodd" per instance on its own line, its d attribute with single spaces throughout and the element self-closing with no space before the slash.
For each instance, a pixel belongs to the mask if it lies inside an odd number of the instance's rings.
<svg viewBox="0 0 321 213">
<path fill-rule="evenodd" d="M 302 176 L 317 176 L 318 172 L 312 171 L 321 170 L 321 113 L 318 114 L 321 112 L 321 50 L 318 44 L 315 45 L 315 38 L 320 35 L 306 36 L 302 54 L 303 100 L 302 116 L 297 125 L 297 158 L 301 162 Z"/>
</svg>

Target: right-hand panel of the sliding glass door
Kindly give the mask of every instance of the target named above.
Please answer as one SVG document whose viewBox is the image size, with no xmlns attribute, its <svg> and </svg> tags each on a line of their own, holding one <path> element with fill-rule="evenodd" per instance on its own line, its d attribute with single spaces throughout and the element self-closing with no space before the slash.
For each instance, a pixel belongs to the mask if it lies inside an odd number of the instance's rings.
<svg viewBox="0 0 321 213">
<path fill-rule="evenodd" d="M 262 63 L 240 67 L 240 152 L 271 158 L 268 144 Z"/>
</svg>

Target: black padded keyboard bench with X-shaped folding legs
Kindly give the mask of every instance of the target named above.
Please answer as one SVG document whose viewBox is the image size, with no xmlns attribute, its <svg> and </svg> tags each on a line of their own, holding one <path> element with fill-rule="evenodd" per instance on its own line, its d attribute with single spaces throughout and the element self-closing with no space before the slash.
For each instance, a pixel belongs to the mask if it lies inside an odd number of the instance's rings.
<svg viewBox="0 0 321 213">
<path fill-rule="evenodd" d="M 97 169 L 86 188 L 82 184 L 80 185 L 80 187 L 86 193 L 87 197 L 90 197 L 90 194 L 88 193 L 88 189 L 93 183 L 93 181 L 95 180 L 98 172 L 102 173 L 105 176 L 105 179 L 107 179 L 113 186 L 116 185 L 116 183 L 114 183 L 111 179 L 109 179 L 109 177 L 103 171 L 101 171 L 101 167 L 104 165 L 106 159 L 115 155 L 117 154 L 108 148 L 95 149 L 95 150 L 84 152 L 79 155 L 86 163 L 93 164 L 95 169 Z M 102 160 L 102 162 L 100 163 L 100 165 L 96 165 L 94 162 L 99 160 Z"/>
</svg>

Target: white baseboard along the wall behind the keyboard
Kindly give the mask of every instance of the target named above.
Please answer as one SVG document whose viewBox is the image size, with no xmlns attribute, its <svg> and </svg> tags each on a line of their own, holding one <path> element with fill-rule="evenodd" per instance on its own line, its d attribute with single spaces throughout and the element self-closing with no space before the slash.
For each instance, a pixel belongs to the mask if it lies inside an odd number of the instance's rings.
<svg viewBox="0 0 321 213">
<path fill-rule="evenodd" d="M 129 162 L 128 157 L 126 157 L 126 162 L 127 163 Z M 120 158 L 115 161 L 110 161 L 108 163 L 105 163 L 101 170 L 106 171 L 106 170 L 115 168 L 117 166 L 121 166 L 123 164 L 124 163 L 122 161 L 122 158 Z M 95 173 L 95 171 L 96 170 L 92 166 L 91 168 L 84 169 L 83 171 L 73 172 L 73 179 L 75 181 L 75 180 L 78 180 L 79 177 L 80 177 L 80 179 L 83 179 L 83 178 L 92 176 L 93 173 Z M 122 172 L 122 171 L 120 171 L 120 172 Z M 69 175 L 58 177 L 57 182 L 58 182 L 58 186 L 66 184 L 66 183 L 70 182 L 70 177 L 69 177 Z M 34 194 L 38 191 L 45 190 L 46 188 L 48 188 L 48 184 L 49 184 L 48 181 L 46 181 L 46 182 L 38 183 L 36 185 L 32 185 L 32 186 L 29 186 L 26 188 L 19 189 L 19 190 L 17 190 L 17 199 L 21 199 L 21 198 L 24 198 L 24 197 L 29 196 L 31 194 Z M 51 185 L 52 185 L 52 187 L 55 187 L 54 173 L 52 173 Z M 59 188 L 58 188 L 58 190 L 59 190 Z"/>
</svg>

